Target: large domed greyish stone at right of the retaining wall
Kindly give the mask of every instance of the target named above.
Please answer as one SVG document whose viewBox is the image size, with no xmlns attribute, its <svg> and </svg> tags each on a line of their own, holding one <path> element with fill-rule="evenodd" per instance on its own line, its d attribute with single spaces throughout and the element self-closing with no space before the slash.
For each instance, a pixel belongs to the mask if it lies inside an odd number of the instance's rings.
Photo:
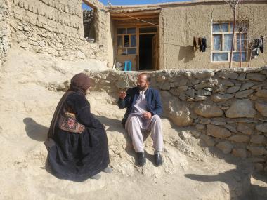
<svg viewBox="0 0 267 200">
<path fill-rule="evenodd" d="M 230 108 L 226 111 L 226 117 L 229 118 L 253 118 L 256 115 L 253 103 L 249 99 L 235 100 Z"/>
</svg>

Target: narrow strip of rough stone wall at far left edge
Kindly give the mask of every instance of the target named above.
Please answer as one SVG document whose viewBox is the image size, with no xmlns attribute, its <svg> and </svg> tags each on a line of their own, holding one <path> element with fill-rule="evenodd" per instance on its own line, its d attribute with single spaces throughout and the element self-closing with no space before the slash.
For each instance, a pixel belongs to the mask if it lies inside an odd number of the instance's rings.
<svg viewBox="0 0 267 200">
<path fill-rule="evenodd" d="M 3 0 L 1 2 L 3 4 L 0 4 L 0 67 L 6 61 L 6 53 L 11 47 L 8 1 Z"/>
</svg>

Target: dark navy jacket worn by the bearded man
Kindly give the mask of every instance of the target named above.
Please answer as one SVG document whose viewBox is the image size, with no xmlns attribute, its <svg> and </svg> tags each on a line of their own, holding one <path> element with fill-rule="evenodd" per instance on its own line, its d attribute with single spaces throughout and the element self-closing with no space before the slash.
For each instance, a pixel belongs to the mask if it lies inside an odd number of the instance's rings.
<svg viewBox="0 0 267 200">
<path fill-rule="evenodd" d="M 133 105 L 136 104 L 136 100 L 138 99 L 138 96 L 140 94 L 140 91 L 137 87 L 129 88 L 126 92 L 126 97 L 124 100 L 119 98 L 119 108 L 127 108 L 126 113 L 124 114 L 124 118 L 122 119 L 122 125 L 125 128 L 126 120 L 133 112 Z M 152 116 L 157 114 L 159 116 L 162 115 L 162 100 L 160 99 L 159 91 L 156 89 L 148 87 L 147 91 L 145 91 L 145 99 L 147 101 L 147 111 L 151 112 Z"/>
</svg>

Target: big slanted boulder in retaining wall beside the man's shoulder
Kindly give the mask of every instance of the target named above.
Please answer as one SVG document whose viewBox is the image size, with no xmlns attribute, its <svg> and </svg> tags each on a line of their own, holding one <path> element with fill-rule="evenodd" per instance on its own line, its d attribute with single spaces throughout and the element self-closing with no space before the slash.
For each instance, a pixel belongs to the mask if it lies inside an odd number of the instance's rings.
<svg viewBox="0 0 267 200">
<path fill-rule="evenodd" d="M 190 110 L 186 102 L 178 100 L 167 91 L 162 91 L 164 115 L 169 117 L 177 126 L 189 126 L 193 124 Z"/>
</svg>

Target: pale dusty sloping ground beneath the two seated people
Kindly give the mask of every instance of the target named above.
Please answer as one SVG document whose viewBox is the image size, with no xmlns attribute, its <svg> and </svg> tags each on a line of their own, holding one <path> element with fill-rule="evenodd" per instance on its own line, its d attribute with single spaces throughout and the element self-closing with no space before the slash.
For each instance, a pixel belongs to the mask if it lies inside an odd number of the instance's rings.
<svg viewBox="0 0 267 200">
<path fill-rule="evenodd" d="M 46 166 L 44 140 L 63 92 L 49 87 L 84 69 L 106 69 L 96 60 L 62 61 L 13 48 L 1 67 L 0 199 L 266 199 L 267 181 L 252 175 L 245 161 L 221 154 L 194 138 L 191 128 L 164 124 L 164 165 L 135 165 L 131 141 L 121 125 L 125 112 L 105 91 L 88 95 L 91 110 L 105 124 L 113 173 L 100 180 L 58 180 Z M 49 84 L 50 83 L 50 84 Z M 54 83 L 56 84 L 56 83 Z"/>
</svg>

